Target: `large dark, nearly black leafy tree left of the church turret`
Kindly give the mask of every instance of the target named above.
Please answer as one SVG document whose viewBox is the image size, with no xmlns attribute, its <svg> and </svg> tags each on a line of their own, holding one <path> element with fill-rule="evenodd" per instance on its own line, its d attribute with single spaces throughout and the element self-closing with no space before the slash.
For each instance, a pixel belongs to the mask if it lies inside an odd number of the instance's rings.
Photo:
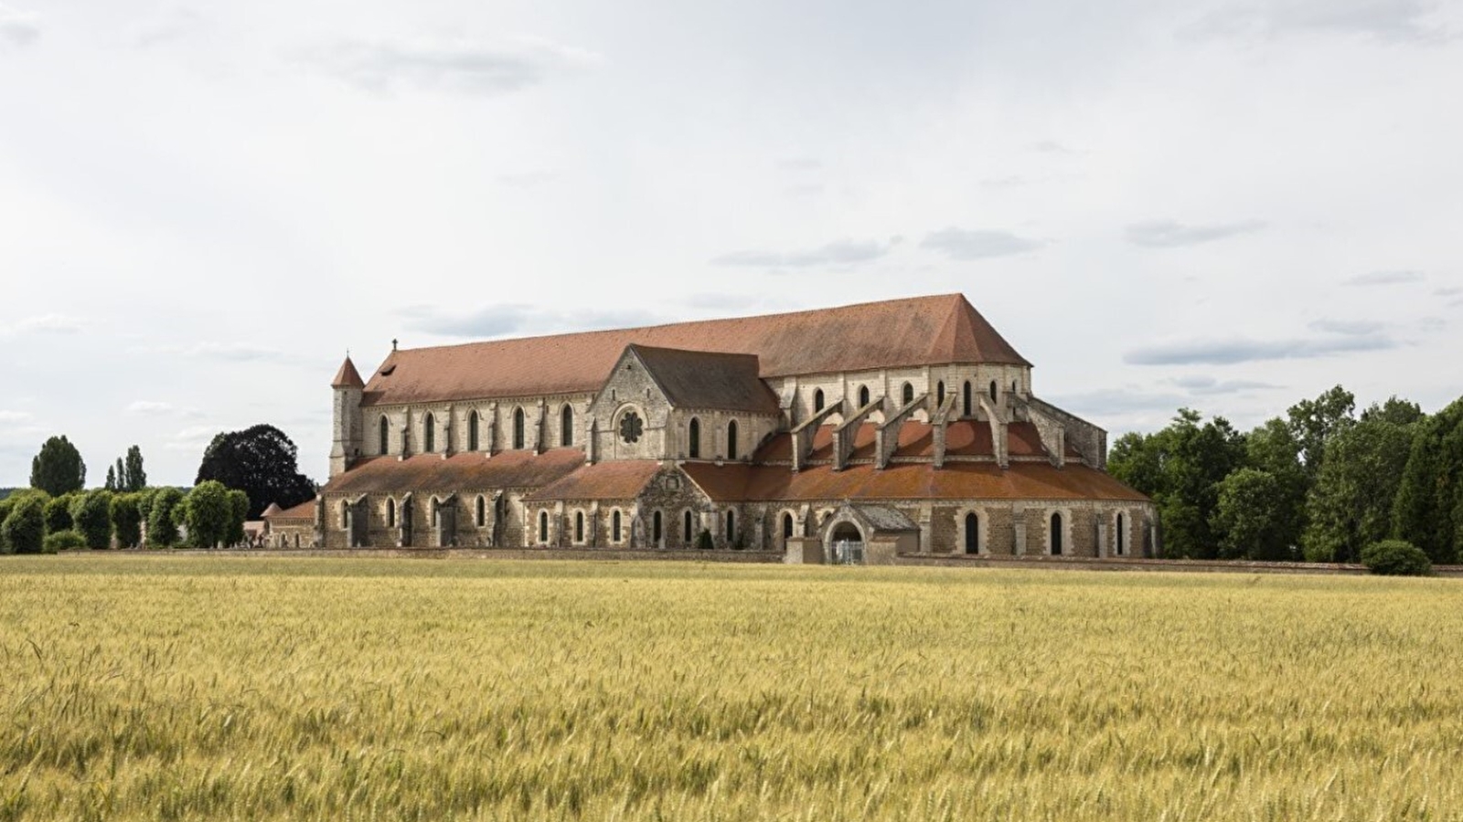
<svg viewBox="0 0 1463 822">
<path fill-rule="evenodd" d="M 315 483 L 300 472 L 294 443 L 268 424 L 214 437 L 203 452 L 196 484 L 209 480 L 249 494 L 249 519 L 269 503 L 291 508 L 315 497 Z"/>
</svg>

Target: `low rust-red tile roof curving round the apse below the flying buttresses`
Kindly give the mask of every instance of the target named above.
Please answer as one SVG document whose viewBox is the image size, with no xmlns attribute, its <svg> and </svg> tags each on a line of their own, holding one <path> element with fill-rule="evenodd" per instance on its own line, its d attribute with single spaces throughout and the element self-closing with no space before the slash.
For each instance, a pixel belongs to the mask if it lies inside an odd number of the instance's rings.
<svg viewBox="0 0 1463 822">
<path fill-rule="evenodd" d="M 882 471 L 853 465 L 834 471 L 816 465 L 799 472 L 778 465 L 686 464 L 686 474 L 718 502 L 812 500 L 1131 500 L 1148 497 L 1112 475 L 1069 464 L 1062 470 L 1046 462 L 1015 462 L 1002 471 L 993 462 L 894 464 Z"/>
</svg>

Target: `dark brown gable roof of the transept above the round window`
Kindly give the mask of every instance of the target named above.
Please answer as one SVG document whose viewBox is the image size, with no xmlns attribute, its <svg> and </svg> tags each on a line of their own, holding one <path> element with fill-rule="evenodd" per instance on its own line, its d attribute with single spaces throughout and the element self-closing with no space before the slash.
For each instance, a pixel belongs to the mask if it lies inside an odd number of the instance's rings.
<svg viewBox="0 0 1463 822">
<path fill-rule="evenodd" d="M 756 370 L 756 354 L 631 345 L 676 408 L 777 414 L 777 395 Z"/>
</svg>

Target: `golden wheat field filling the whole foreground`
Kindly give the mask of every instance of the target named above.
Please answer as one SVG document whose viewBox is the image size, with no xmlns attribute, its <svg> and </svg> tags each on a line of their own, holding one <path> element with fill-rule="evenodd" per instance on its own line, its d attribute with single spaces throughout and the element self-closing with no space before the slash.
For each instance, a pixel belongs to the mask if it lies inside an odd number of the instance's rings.
<svg viewBox="0 0 1463 822">
<path fill-rule="evenodd" d="M 0 562 L 0 819 L 1463 819 L 1463 584 Z"/>
</svg>

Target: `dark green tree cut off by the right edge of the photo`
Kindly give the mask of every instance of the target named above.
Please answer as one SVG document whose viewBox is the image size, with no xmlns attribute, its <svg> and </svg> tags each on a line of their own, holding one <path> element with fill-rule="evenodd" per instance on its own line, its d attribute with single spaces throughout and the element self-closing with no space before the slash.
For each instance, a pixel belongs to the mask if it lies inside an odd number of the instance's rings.
<svg viewBox="0 0 1463 822">
<path fill-rule="evenodd" d="M 1393 535 L 1435 565 L 1459 562 L 1463 543 L 1463 398 L 1416 424 L 1397 500 Z"/>
</svg>

